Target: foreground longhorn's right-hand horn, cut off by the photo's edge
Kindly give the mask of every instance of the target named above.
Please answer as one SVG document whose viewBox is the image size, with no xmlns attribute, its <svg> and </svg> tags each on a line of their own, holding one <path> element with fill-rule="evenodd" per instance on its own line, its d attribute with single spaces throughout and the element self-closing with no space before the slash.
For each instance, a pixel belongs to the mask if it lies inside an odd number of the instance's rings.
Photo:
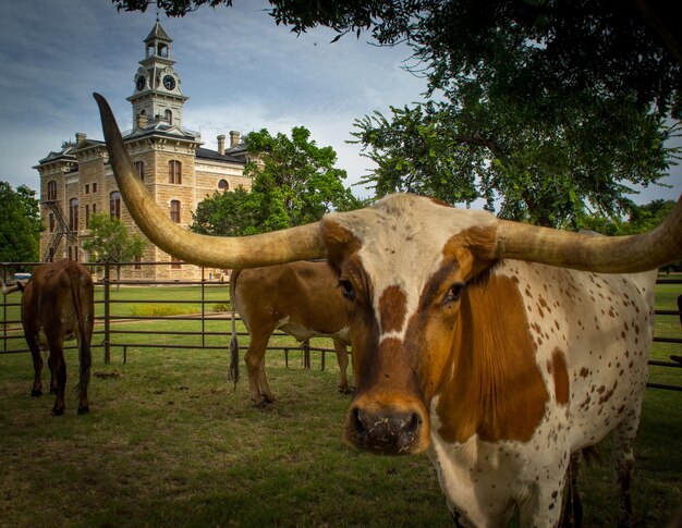
<svg viewBox="0 0 682 528">
<path fill-rule="evenodd" d="M 501 220 L 496 256 L 598 273 L 648 271 L 682 258 L 682 196 L 647 233 L 589 236 Z"/>
</svg>

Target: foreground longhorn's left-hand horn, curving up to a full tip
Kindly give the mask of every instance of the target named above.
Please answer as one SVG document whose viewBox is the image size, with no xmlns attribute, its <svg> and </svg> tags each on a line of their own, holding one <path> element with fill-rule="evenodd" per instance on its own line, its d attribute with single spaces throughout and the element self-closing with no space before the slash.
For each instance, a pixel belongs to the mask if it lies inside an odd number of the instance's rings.
<svg viewBox="0 0 682 528">
<path fill-rule="evenodd" d="M 181 228 L 149 196 L 125 150 L 109 103 L 99 94 L 93 95 L 99 106 L 105 140 L 123 201 L 143 233 L 162 250 L 210 268 L 253 268 L 326 255 L 319 222 L 243 237 L 207 236 Z"/>
</svg>

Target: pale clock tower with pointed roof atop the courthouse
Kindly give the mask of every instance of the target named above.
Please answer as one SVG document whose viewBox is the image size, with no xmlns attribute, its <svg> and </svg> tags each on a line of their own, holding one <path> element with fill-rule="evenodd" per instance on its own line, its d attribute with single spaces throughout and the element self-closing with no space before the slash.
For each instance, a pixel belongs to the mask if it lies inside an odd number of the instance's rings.
<svg viewBox="0 0 682 528">
<path fill-rule="evenodd" d="M 171 59 L 172 39 L 157 15 L 154 28 L 145 38 L 145 58 L 135 73 L 134 93 L 127 98 L 133 105 L 133 131 L 166 125 L 182 132 L 182 110 L 188 97 L 180 90 L 180 77 Z"/>
</svg>

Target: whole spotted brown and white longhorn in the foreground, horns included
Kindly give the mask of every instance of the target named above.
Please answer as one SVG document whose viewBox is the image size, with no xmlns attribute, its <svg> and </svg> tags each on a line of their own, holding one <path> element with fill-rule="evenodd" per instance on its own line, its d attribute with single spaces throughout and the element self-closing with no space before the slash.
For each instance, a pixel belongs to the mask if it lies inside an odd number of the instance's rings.
<svg viewBox="0 0 682 528">
<path fill-rule="evenodd" d="M 327 256 L 350 317 L 357 392 L 349 443 L 377 454 L 426 451 L 461 525 L 500 526 L 519 507 L 523 526 L 555 526 L 571 455 L 613 430 L 628 508 L 650 270 L 682 256 L 682 199 L 657 229 L 623 237 L 412 195 L 282 232 L 207 237 L 154 204 L 96 98 L 126 206 L 163 250 L 217 268 Z"/>
</svg>

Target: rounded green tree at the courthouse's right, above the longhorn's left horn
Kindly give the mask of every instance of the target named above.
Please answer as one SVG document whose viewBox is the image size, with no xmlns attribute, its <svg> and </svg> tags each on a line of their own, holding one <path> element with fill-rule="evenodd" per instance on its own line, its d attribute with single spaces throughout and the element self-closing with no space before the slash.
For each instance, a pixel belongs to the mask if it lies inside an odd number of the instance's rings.
<svg viewBox="0 0 682 528">
<path fill-rule="evenodd" d="M 285 134 L 267 130 L 245 138 L 251 161 L 244 174 L 253 177 L 251 193 L 215 193 L 199 204 L 190 229 L 198 233 L 243 235 L 302 225 L 331 210 L 361 207 L 343 186 L 345 171 L 334 168 L 331 147 L 318 147 L 303 126 Z"/>
</svg>

